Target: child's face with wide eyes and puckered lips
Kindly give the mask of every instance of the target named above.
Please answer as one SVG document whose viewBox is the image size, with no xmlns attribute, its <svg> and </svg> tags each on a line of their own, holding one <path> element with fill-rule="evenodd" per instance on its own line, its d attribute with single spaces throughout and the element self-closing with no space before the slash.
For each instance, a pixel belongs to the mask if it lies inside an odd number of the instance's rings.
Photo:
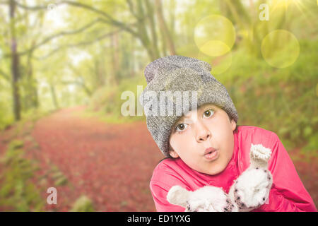
<svg viewBox="0 0 318 226">
<path fill-rule="evenodd" d="M 202 105 L 185 117 L 172 127 L 170 155 L 180 157 L 198 172 L 222 172 L 232 157 L 235 121 L 230 121 L 223 109 L 211 104 Z M 210 147 L 216 151 L 205 155 L 206 148 Z"/>
</svg>

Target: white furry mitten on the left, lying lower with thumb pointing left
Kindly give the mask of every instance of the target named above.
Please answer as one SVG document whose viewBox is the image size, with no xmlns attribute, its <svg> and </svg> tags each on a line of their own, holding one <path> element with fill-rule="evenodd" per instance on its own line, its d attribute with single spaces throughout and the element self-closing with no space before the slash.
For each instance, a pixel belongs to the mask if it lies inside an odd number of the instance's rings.
<svg viewBox="0 0 318 226">
<path fill-rule="evenodd" d="M 228 194 L 216 186 L 204 186 L 196 191 L 172 186 L 167 201 L 184 207 L 185 212 L 232 212 L 232 208 L 235 208 Z"/>
</svg>

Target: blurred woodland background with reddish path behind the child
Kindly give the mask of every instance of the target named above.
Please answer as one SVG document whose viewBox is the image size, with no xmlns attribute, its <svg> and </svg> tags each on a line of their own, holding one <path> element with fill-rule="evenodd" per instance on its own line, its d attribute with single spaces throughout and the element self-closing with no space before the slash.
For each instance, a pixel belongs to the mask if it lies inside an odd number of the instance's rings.
<svg viewBox="0 0 318 226">
<path fill-rule="evenodd" d="M 211 64 L 238 125 L 278 134 L 317 205 L 317 4 L 0 0 L 0 211 L 155 211 L 137 85 L 174 54 Z"/>
</svg>

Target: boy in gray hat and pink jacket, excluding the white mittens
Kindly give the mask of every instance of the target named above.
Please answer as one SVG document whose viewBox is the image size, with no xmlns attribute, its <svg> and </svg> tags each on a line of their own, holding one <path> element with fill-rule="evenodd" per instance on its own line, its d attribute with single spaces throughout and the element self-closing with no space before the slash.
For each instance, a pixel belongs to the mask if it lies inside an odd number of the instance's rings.
<svg viewBox="0 0 318 226">
<path fill-rule="evenodd" d="M 266 187 L 264 182 L 259 191 L 250 193 L 247 191 L 253 183 L 247 183 L 245 190 L 237 191 L 242 208 L 317 211 L 278 136 L 256 126 L 237 126 L 238 115 L 230 95 L 210 71 L 208 63 L 182 56 L 162 57 L 146 67 L 148 85 L 140 102 L 148 130 L 167 157 L 155 167 L 150 183 L 157 210 L 184 211 L 167 202 L 167 192 L 175 185 L 189 191 L 217 186 L 228 193 L 233 182 L 240 180 L 240 174 L 249 167 L 249 149 L 253 143 L 271 149 L 268 170 L 273 185 Z M 184 101 L 172 97 L 158 104 L 158 99 L 149 95 L 185 91 L 195 91 L 192 95 L 196 98 Z M 158 114 L 158 109 L 181 110 L 182 115 Z M 251 198 L 261 204 L 247 208 L 245 201 Z"/>
</svg>

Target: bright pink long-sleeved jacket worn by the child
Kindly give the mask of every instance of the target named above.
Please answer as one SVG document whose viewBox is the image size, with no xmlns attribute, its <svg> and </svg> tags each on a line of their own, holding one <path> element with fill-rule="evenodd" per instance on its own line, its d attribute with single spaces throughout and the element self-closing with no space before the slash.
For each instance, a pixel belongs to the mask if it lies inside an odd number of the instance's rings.
<svg viewBox="0 0 318 226">
<path fill-rule="evenodd" d="M 234 152 L 227 167 L 216 175 L 197 172 L 180 158 L 165 159 L 153 170 L 150 188 L 157 211 L 184 211 L 181 206 L 170 204 L 167 192 L 174 185 L 194 191 L 202 186 L 222 187 L 226 193 L 233 181 L 249 167 L 251 143 L 264 145 L 272 151 L 269 170 L 273 175 L 273 186 L 269 201 L 253 211 L 316 211 L 314 202 L 300 181 L 293 162 L 276 133 L 256 126 L 238 126 L 234 133 Z"/>
</svg>

